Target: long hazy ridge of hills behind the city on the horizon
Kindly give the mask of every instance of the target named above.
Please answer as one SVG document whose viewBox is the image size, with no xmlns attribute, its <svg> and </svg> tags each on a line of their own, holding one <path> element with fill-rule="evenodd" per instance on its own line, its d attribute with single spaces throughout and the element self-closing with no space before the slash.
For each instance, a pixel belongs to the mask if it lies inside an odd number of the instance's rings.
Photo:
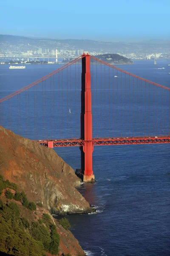
<svg viewBox="0 0 170 256">
<path fill-rule="evenodd" d="M 159 42 L 159 43 L 156 43 Z M 162 44 L 161 44 L 162 42 Z M 164 43 L 163 43 L 164 42 Z M 29 38 L 24 36 L 0 35 L 0 52 L 6 52 L 11 48 L 20 51 L 35 49 L 35 47 L 49 49 L 84 49 L 97 52 L 152 52 L 168 51 L 170 41 L 143 41 L 143 42 L 107 42 L 88 39 L 49 39 Z"/>
</svg>

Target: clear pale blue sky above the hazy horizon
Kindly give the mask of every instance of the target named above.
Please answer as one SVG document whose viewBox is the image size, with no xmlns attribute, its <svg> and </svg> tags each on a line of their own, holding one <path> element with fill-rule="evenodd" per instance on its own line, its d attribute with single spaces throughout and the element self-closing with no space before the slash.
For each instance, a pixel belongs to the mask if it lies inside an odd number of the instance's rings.
<svg viewBox="0 0 170 256">
<path fill-rule="evenodd" d="M 102 41 L 170 38 L 170 0 L 1 0 L 0 34 Z"/>
</svg>

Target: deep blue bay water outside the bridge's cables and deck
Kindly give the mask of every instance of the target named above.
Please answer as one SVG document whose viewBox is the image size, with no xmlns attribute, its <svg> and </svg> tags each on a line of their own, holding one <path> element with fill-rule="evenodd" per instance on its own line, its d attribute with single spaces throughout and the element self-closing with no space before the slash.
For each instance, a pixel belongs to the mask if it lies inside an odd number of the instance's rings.
<svg viewBox="0 0 170 256">
<path fill-rule="evenodd" d="M 167 64 L 160 60 L 155 67 L 152 61 L 136 61 L 122 68 L 170 87 Z M 1 97 L 3 91 L 26 86 L 54 66 L 28 69 L 25 74 L 10 73 L 7 66 L 0 66 Z M 80 167 L 79 148 L 56 151 L 74 169 Z M 82 248 L 94 256 L 169 256 L 170 145 L 95 147 L 93 157 L 97 181 L 85 184 L 81 192 L 97 213 L 68 217 Z"/>
</svg>

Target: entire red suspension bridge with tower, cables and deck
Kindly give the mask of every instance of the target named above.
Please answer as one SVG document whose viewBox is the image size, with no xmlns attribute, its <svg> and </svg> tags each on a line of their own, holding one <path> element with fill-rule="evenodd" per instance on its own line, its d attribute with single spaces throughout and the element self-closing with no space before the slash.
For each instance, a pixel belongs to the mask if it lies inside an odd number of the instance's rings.
<svg viewBox="0 0 170 256">
<path fill-rule="evenodd" d="M 91 182 L 96 145 L 170 143 L 170 88 L 83 54 L 0 99 L 0 124 L 47 148 L 79 146 Z"/>
</svg>

